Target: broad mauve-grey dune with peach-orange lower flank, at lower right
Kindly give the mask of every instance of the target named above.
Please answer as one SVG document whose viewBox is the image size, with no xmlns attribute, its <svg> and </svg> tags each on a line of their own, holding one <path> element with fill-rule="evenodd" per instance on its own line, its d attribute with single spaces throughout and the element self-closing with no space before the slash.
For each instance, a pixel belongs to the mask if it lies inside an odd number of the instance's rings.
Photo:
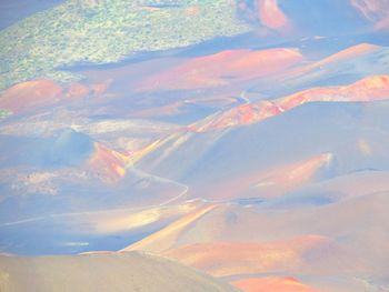
<svg viewBox="0 0 389 292">
<path fill-rule="evenodd" d="M 129 249 L 159 252 L 217 276 L 283 272 L 379 279 L 388 266 L 388 235 L 380 223 L 387 201 L 387 193 L 370 193 L 305 209 L 219 205 L 182 226 L 170 246 L 167 226 L 161 236 Z"/>
</svg>

